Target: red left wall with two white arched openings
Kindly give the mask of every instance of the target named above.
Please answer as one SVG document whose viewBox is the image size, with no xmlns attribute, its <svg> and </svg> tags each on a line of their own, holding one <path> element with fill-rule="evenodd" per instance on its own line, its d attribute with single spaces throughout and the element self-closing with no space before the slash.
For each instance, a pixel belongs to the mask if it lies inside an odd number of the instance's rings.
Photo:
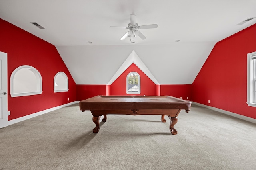
<svg viewBox="0 0 256 170">
<path fill-rule="evenodd" d="M 8 120 L 76 101 L 76 84 L 56 47 L 2 19 L 0 25 L 0 51 L 8 53 Z M 33 66 L 40 72 L 42 94 L 10 96 L 10 76 L 22 65 Z M 54 93 L 54 76 L 60 71 L 68 76 L 69 90 Z"/>
</svg>

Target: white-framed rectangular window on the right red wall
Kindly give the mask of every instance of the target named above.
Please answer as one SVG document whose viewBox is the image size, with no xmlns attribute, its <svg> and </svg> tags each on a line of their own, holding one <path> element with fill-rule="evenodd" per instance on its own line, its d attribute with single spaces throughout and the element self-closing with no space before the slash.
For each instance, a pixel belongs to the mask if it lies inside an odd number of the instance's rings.
<svg viewBox="0 0 256 170">
<path fill-rule="evenodd" d="M 247 54 L 247 104 L 256 107 L 256 52 Z"/>
</svg>

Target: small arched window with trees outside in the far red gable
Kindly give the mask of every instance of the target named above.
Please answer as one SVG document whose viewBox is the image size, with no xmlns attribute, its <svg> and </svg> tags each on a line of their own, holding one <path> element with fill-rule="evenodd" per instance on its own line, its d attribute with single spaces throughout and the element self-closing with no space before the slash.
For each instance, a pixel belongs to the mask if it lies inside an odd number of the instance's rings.
<svg viewBox="0 0 256 170">
<path fill-rule="evenodd" d="M 126 78 L 126 93 L 140 94 L 140 75 L 137 72 L 130 72 Z"/>
</svg>

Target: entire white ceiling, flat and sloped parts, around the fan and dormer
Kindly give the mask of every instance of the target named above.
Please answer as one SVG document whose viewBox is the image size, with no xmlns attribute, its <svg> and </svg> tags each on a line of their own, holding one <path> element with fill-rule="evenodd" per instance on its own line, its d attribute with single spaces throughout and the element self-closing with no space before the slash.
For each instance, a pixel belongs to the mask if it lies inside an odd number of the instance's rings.
<svg viewBox="0 0 256 170">
<path fill-rule="evenodd" d="M 134 50 L 160 84 L 192 84 L 215 43 L 256 23 L 256 0 L 0 0 L 0 18 L 52 43 L 77 84 L 107 84 Z M 120 38 L 130 14 L 147 38 Z M 39 29 L 37 22 L 46 29 Z M 175 42 L 180 40 L 180 42 Z M 92 44 L 87 43 L 91 41 Z"/>
</svg>

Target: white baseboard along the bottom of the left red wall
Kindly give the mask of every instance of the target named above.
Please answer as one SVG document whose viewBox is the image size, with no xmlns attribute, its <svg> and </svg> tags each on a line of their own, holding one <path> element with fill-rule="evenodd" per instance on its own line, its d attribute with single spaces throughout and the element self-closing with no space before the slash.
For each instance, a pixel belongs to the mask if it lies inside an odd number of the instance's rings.
<svg viewBox="0 0 256 170">
<path fill-rule="evenodd" d="M 56 107 L 52 107 L 50 109 L 46 109 L 46 110 L 43 110 L 43 111 L 39 111 L 39 112 L 36 112 L 36 113 L 32 113 L 30 115 L 26 115 L 26 116 L 23 116 L 23 117 L 19 117 L 17 119 L 12 119 L 12 120 L 9 120 L 8 121 L 8 125 L 12 125 L 14 123 L 18 123 L 18 122 L 21 122 L 21 121 L 24 121 L 24 120 L 27 120 L 27 119 L 30 119 L 30 118 L 33 118 L 33 117 L 36 117 L 36 116 L 39 116 L 39 115 L 43 115 L 45 113 L 49 113 L 51 111 L 54 111 L 54 110 L 57 110 L 57 109 L 60 109 L 62 107 L 66 107 L 66 106 L 69 106 L 69 105 L 72 105 L 72 104 L 76 104 L 76 103 L 79 103 L 79 101 L 74 101 L 74 102 L 70 102 L 70 103 L 67 103 L 67 104 L 64 104 L 64 105 L 60 105 L 60 106 L 56 106 Z"/>
</svg>

